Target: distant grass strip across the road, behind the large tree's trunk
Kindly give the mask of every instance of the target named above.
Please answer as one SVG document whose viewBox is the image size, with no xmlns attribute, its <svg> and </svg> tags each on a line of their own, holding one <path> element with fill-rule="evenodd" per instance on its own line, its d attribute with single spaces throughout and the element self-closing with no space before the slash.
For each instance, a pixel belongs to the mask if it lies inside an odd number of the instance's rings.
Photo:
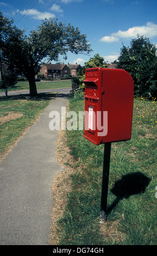
<svg viewBox="0 0 157 256">
<path fill-rule="evenodd" d="M 68 87 L 71 87 L 71 80 L 36 82 L 37 90 L 58 89 L 58 88 L 68 88 Z M 8 92 L 16 91 L 16 90 L 29 90 L 28 81 L 20 81 L 14 87 L 8 88 Z M 0 92 L 4 92 L 4 89 L 0 89 Z"/>
</svg>

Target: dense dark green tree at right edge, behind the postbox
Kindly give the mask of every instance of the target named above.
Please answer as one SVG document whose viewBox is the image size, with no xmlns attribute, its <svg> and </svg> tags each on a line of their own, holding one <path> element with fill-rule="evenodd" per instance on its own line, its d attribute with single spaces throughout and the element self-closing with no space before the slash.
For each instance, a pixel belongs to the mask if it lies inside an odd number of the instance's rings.
<svg viewBox="0 0 157 256">
<path fill-rule="evenodd" d="M 157 58 L 155 46 L 148 38 L 137 35 L 130 47 L 123 45 L 118 61 L 117 68 L 128 71 L 133 77 L 136 95 L 157 95 Z"/>
</svg>

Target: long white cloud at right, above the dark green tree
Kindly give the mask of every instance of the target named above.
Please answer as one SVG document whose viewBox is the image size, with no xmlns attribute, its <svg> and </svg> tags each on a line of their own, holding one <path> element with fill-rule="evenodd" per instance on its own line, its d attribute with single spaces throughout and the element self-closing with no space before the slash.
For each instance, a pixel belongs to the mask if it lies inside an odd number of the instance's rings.
<svg viewBox="0 0 157 256">
<path fill-rule="evenodd" d="M 137 34 L 146 36 L 147 38 L 153 38 L 154 36 L 157 36 L 157 25 L 153 22 L 147 22 L 146 26 L 135 26 L 129 28 L 127 31 L 119 30 L 116 33 L 112 33 L 110 36 L 103 36 L 100 41 L 117 42 L 120 38 L 136 38 Z"/>
</svg>

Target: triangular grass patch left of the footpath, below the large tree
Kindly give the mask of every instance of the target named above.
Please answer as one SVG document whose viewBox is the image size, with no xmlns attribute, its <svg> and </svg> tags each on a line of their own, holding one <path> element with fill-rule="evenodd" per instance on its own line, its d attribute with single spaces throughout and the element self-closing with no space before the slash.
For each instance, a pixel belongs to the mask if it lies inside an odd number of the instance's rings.
<svg viewBox="0 0 157 256">
<path fill-rule="evenodd" d="M 33 99 L 29 95 L 0 97 L 0 118 L 7 117 L 10 112 L 22 114 L 22 117 L 15 120 L 0 122 L 0 156 L 35 122 L 53 97 L 55 94 L 48 93 L 39 94 Z"/>
</svg>

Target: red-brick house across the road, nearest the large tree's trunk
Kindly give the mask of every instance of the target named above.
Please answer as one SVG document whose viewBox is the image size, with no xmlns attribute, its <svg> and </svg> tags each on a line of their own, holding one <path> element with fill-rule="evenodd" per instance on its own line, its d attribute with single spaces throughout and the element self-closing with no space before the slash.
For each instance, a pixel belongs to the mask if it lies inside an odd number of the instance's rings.
<svg viewBox="0 0 157 256">
<path fill-rule="evenodd" d="M 40 73 L 43 74 L 45 78 L 60 78 L 70 75 L 70 69 L 65 64 L 45 64 L 41 67 Z"/>
</svg>

